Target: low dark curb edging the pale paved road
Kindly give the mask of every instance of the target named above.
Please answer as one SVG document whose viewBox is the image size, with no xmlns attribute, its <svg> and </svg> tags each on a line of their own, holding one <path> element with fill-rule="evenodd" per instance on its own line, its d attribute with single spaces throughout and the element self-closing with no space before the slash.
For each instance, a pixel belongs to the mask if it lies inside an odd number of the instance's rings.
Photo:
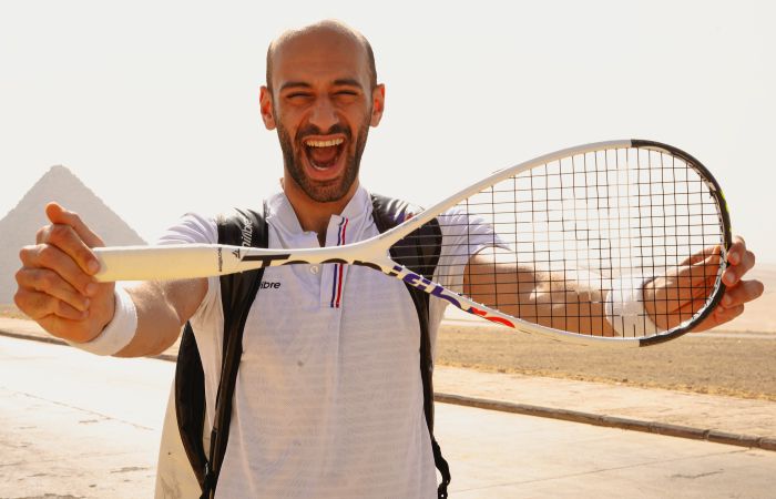
<svg viewBox="0 0 776 499">
<path fill-rule="evenodd" d="M 53 345 L 70 346 L 65 342 L 52 336 L 35 336 L 13 333 L 0 329 L 0 336 L 17 339 L 31 339 L 34 342 Z M 176 356 L 161 354 L 153 357 L 159 360 L 175 361 Z M 754 435 L 729 434 L 715 429 L 702 429 L 691 426 L 672 425 L 668 422 L 645 421 L 642 419 L 623 418 L 619 416 L 604 416 L 581 410 L 561 409 L 557 407 L 532 406 L 530 404 L 514 404 L 508 401 L 490 400 L 486 398 L 464 397 L 462 395 L 440 394 L 433 395 L 433 400 L 440 404 L 455 404 L 458 406 L 476 407 L 478 409 L 498 410 L 501 413 L 521 414 L 540 418 L 561 419 L 564 421 L 582 422 L 585 425 L 604 426 L 631 431 L 664 435 L 666 437 L 687 438 L 692 440 L 707 440 L 715 444 L 726 444 L 738 447 L 749 447 L 763 450 L 776 451 L 776 438 L 757 437 Z"/>
</svg>

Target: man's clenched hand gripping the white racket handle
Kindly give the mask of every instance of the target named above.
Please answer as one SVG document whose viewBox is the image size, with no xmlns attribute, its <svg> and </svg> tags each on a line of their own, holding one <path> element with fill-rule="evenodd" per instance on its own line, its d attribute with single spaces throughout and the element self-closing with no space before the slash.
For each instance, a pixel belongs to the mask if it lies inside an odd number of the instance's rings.
<svg viewBox="0 0 776 499">
<path fill-rule="evenodd" d="M 113 283 L 98 283 L 100 264 L 92 247 L 104 246 L 73 212 L 45 206 L 50 225 L 38 231 L 35 245 L 19 253 L 22 267 L 13 297 L 19 309 L 54 336 L 75 343 L 96 337 L 113 318 Z"/>
</svg>

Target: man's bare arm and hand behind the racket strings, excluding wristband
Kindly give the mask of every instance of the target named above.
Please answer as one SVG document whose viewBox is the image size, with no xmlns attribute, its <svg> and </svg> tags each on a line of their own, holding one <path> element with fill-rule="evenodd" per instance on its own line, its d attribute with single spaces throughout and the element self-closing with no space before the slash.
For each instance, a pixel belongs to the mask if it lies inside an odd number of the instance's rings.
<svg viewBox="0 0 776 499">
<path fill-rule="evenodd" d="M 732 320 L 744 312 L 747 302 L 763 294 L 763 283 L 742 279 L 755 262 L 744 240 L 734 238 L 727 259 L 728 267 L 723 274 L 725 294 L 714 312 L 693 329 L 695 332 Z M 661 330 L 675 327 L 703 306 L 718 265 L 719 248 L 709 248 L 644 285 L 644 308 Z M 497 248 L 492 253 L 480 252 L 469 259 L 463 274 L 463 294 L 534 324 L 594 336 L 615 335 L 605 318 L 607 289 L 600 278 L 580 278 L 579 274 L 571 278 L 568 274 L 519 266 L 511 253 Z"/>
</svg>

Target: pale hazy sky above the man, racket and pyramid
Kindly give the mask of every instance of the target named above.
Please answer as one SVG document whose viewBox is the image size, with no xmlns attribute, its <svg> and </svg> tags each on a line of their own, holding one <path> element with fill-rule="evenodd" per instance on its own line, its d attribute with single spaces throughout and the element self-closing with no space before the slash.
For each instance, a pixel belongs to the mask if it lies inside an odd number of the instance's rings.
<svg viewBox="0 0 776 499">
<path fill-rule="evenodd" d="M 257 205 L 282 174 L 257 109 L 266 45 L 330 17 L 370 39 L 387 86 L 368 189 L 428 205 L 557 149 L 652 139 L 704 162 L 776 263 L 766 0 L 0 0 L 0 216 L 54 164 L 147 240 L 186 211 Z"/>
</svg>

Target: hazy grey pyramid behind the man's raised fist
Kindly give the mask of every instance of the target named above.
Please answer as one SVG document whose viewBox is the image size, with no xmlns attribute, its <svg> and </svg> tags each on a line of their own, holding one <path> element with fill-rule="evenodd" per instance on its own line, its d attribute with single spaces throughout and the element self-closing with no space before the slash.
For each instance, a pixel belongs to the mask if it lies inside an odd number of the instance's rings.
<svg viewBox="0 0 776 499">
<path fill-rule="evenodd" d="M 0 304 L 12 304 L 19 249 L 34 244 L 35 233 L 48 224 L 45 204 L 57 201 L 81 218 L 108 245 L 145 244 L 126 223 L 86 187 L 70 170 L 52 166 L 0 220 Z"/>
</svg>

